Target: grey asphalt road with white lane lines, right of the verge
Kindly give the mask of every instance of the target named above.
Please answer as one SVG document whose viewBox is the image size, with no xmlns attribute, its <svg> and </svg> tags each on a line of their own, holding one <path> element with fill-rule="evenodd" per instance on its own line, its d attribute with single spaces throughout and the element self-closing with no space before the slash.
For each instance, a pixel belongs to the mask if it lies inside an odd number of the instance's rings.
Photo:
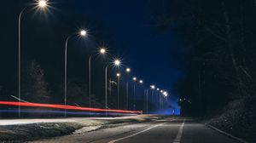
<svg viewBox="0 0 256 143">
<path fill-rule="evenodd" d="M 185 118 L 167 118 L 133 123 L 88 133 L 72 134 L 33 143 L 239 143 L 201 123 Z"/>
</svg>

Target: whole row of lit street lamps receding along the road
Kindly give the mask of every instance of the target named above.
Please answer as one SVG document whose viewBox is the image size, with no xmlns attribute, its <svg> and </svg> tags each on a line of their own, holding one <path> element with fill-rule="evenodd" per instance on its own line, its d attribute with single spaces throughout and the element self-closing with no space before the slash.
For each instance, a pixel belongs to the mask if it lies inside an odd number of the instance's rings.
<svg viewBox="0 0 256 143">
<path fill-rule="evenodd" d="M 45 10 L 49 7 L 49 1 L 48 0 L 38 0 L 37 6 L 36 6 L 39 10 Z M 21 26 L 21 19 L 23 16 L 24 11 L 27 9 L 24 8 L 20 11 L 20 15 L 19 15 L 19 72 L 18 72 L 18 76 L 19 76 L 19 81 L 18 81 L 18 96 L 19 99 L 21 99 L 20 97 L 20 59 L 21 59 L 21 55 L 20 55 L 20 51 L 21 51 L 21 47 L 20 47 L 20 43 L 21 43 L 21 33 L 20 33 L 20 26 Z M 69 37 L 67 37 L 66 42 L 65 42 L 65 73 L 64 73 L 64 103 L 65 106 L 67 106 L 67 46 L 68 46 L 68 41 L 75 37 L 75 36 L 80 36 L 80 37 L 86 37 L 87 36 L 87 31 L 85 30 L 81 30 L 79 31 L 79 33 L 75 33 L 73 35 L 70 35 Z M 99 49 L 99 54 L 106 54 L 108 51 L 107 49 Z M 93 58 L 94 54 L 90 55 L 89 57 L 89 106 L 91 107 L 91 60 Z M 107 109 L 108 109 L 108 67 L 109 66 L 120 66 L 121 65 L 121 60 L 119 59 L 114 59 L 112 62 L 108 63 L 108 65 L 105 67 L 105 109 L 106 109 L 106 115 L 107 115 Z M 129 75 L 131 72 L 130 68 L 126 68 L 125 72 Z M 116 75 L 118 77 L 118 109 L 119 109 L 119 96 L 120 96 L 120 90 L 119 90 L 119 86 L 120 86 L 120 73 L 117 73 Z M 133 85 L 133 109 L 135 109 L 135 99 L 136 99 L 136 82 L 137 82 L 137 77 L 133 77 L 132 80 L 134 81 L 134 85 Z M 138 83 L 143 84 L 143 80 L 138 80 Z M 151 85 L 150 88 L 152 89 L 152 96 L 154 95 L 154 89 L 155 86 Z M 159 90 L 159 89 L 158 89 Z M 162 93 L 164 96 L 167 96 L 167 92 L 164 92 L 163 90 L 160 91 L 160 93 Z M 129 82 L 126 82 L 126 109 L 128 110 L 129 108 Z M 148 101 L 147 101 L 148 103 Z M 148 105 L 147 105 L 148 106 Z M 19 117 L 20 117 L 20 100 L 19 100 Z M 67 116 L 67 112 L 65 110 L 65 117 Z"/>
</svg>

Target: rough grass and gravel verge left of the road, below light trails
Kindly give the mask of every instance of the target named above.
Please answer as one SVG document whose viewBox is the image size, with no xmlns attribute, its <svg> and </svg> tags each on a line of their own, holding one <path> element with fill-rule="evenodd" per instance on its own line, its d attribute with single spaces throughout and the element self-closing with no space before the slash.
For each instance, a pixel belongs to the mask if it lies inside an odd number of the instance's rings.
<svg viewBox="0 0 256 143">
<path fill-rule="evenodd" d="M 20 123 L 0 125 L 0 142 L 18 143 L 30 140 L 49 139 L 67 134 L 81 134 L 96 129 L 106 129 L 129 123 L 143 123 L 158 120 L 164 117 L 135 116 L 135 117 L 96 117 L 71 118 L 65 121 L 52 123 Z"/>
</svg>

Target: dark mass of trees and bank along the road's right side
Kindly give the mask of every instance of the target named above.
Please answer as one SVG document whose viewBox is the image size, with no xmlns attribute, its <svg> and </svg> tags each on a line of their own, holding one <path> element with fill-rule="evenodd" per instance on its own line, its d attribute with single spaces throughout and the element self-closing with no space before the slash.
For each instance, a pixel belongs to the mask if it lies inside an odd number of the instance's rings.
<svg viewBox="0 0 256 143">
<path fill-rule="evenodd" d="M 255 1 L 161 0 L 152 8 L 156 29 L 185 39 L 181 113 L 213 117 L 218 129 L 255 142 Z"/>
</svg>

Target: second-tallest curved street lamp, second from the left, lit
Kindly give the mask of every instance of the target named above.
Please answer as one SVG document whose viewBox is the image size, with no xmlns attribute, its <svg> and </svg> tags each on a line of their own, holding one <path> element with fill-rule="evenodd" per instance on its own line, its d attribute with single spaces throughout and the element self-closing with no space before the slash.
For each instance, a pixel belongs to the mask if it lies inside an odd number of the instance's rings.
<svg viewBox="0 0 256 143">
<path fill-rule="evenodd" d="M 66 43 L 65 43 L 65 73 L 64 73 L 64 76 L 65 76 L 65 79 L 64 79 L 64 102 L 65 102 L 65 106 L 67 106 L 67 43 L 68 43 L 68 40 L 73 37 L 73 36 L 76 36 L 77 34 L 73 34 L 69 37 L 67 37 L 66 39 Z M 86 31 L 85 30 L 81 30 L 79 35 L 81 37 L 85 37 L 86 36 Z M 67 116 L 67 112 L 66 112 L 66 109 L 65 109 L 65 117 Z"/>
</svg>

